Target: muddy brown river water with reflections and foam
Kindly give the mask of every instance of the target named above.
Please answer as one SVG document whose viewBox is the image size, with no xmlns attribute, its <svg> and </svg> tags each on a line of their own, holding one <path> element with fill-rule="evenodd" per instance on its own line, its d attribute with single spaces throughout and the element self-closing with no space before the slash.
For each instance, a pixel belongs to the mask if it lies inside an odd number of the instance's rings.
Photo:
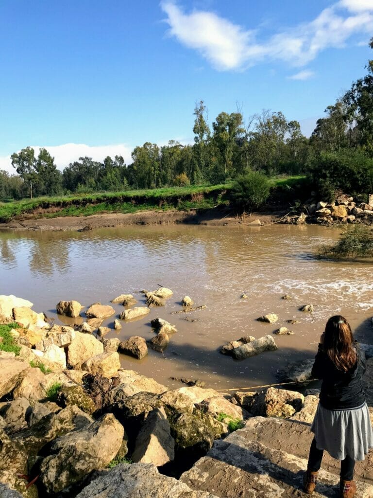
<svg viewBox="0 0 373 498">
<path fill-rule="evenodd" d="M 106 336 L 151 339 L 150 319 L 165 318 L 179 331 L 165 356 L 151 350 L 141 361 L 122 356 L 122 366 L 169 386 L 179 385 L 170 376 L 198 378 L 215 388 L 258 385 L 276 381 L 276 370 L 287 362 L 312 358 L 324 323 L 333 314 L 344 314 L 356 337 L 373 343 L 373 264 L 313 257 L 320 244 L 336 240 L 339 233 L 284 225 L 0 232 L 0 294 L 29 299 L 36 311 L 56 317 L 61 299 L 104 304 L 130 292 L 142 304 L 141 289 L 170 287 L 174 296 L 165 308 L 153 308 L 144 319 L 123 323 L 119 333 L 113 330 Z M 243 292 L 249 299 L 240 299 Z M 284 294 L 292 299 L 281 299 Z M 181 309 L 184 295 L 207 308 L 171 315 Z M 298 311 L 308 303 L 315 306 L 313 316 Z M 119 314 L 122 307 L 114 307 Z M 276 326 L 256 321 L 270 312 L 280 316 Z M 184 320 L 186 316 L 195 321 Z M 301 323 L 289 326 L 285 320 L 291 318 Z M 294 335 L 275 336 L 276 352 L 241 362 L 218 352 L 228 341 L 272 334 L 278 326 L 287 326 Z"/>
</svg>

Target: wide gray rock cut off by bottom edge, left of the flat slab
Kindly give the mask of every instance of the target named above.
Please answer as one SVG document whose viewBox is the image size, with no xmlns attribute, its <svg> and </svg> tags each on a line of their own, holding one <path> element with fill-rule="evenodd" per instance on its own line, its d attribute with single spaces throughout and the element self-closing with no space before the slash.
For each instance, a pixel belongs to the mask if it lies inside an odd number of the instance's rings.
<svg viewBox="0 0 373 498">
<path fill-rule="evenodd" d="M 159 474 L 152 464 L 120 464 L 96 476 L 76 498 L 217 498 Z"/>
</svg>

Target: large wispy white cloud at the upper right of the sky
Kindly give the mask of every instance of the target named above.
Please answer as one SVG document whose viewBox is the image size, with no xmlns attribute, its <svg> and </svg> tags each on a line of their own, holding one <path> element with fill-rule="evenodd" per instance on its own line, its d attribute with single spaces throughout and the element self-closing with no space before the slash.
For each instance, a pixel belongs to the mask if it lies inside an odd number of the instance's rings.
<svg viewBox="0 0 373 498">
<path fill-rule="evenodd" d="M 246 29 L 214 12 L 185 13 L 174 1 L 164 0 L 170 36 L 195 49 L 217 70 L 243 70 L 269 60 L 304 66 L 319 52 L 343 47 L 354 34 L 373 32 L 372 0 L 341 0 L 309 22 L 259 41 L 258 29 Z"/>
</svg>

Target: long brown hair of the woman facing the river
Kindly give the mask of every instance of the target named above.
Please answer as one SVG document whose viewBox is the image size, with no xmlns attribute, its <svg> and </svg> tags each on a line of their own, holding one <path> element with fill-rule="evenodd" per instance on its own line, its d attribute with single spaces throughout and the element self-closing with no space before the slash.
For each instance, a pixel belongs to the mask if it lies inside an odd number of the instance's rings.
<svg viewBox="0 0 373 498">
<path fill-rule="evenodd" d="M 338 370 L 347 372 L 357 360 L 351 327 L 345 317 L 335 315 L 325 326 L 323 349 Z"/>
</svg>

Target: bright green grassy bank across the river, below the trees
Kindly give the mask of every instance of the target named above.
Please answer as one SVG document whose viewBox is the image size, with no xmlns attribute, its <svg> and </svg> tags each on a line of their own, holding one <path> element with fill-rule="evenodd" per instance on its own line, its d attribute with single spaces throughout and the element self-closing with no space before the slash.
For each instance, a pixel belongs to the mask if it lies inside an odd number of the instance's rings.
<svg viewBox="0 0 373 498">
<path fill-rule="evenodd" d="M 302 181 L 304 177 L 300 176 L 281 177 L 271 178 L 270 184 L 274 191 L 287 189 L 291 192 L 293 187 Z M 35 218 L 55 218 L 90 216 L 107 212 L 135 213 L 147 210 L 207 209 L 228 205 L 232 185 L 233 182 L 228 182 L 219 185 L 189 185 L 187 187 L 23 199 L 0 203 L 0 223 L 30 214 Z"/>
</svg>

